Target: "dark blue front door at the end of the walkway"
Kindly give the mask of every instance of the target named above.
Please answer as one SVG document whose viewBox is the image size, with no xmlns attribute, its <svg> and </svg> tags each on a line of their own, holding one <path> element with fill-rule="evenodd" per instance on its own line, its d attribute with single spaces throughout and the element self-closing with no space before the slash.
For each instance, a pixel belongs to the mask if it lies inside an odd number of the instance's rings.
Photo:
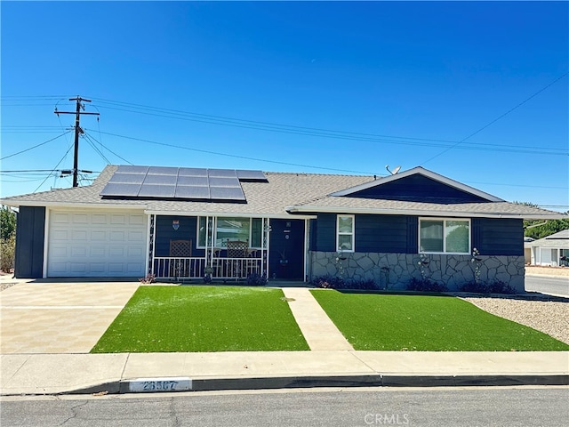
<svg viewBox="0 0 569 427">
<path fill-rule="evenodd" d="M 269 278 L 304 280 L 304 220 L 270 220 Z"/>
</svg>

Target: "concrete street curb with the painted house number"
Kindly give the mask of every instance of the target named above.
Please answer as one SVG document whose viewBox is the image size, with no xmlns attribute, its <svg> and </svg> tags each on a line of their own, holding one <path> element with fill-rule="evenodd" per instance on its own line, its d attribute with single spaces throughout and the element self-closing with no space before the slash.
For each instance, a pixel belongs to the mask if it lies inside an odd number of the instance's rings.
<svg viewBox="0 0 569 427">
<path fill-rule="evenodd" d="M 148 382 L 162 382 L 168 377 L 146 378 Z M 270 390 L 317 387 L 470 387 L 470 386 L 521 386 L 521 385 L 569 385 L 567 374 L 528 374 L 528 375 L 305 375 L 276 377 L 239 378 L 190 378 L 190 389 L 132 391 L 132 383 L 140 379 L 100 383 L 76 390 L 58 393 L 37 394 L 129 394 L 142 392 L 180 392 L 180 391 L 228 391 L 228 390 Z M 13 394 L 3 394 L 3 396 Z M 19 394 L 20 395 L 20 394 Z"/>
</svg>

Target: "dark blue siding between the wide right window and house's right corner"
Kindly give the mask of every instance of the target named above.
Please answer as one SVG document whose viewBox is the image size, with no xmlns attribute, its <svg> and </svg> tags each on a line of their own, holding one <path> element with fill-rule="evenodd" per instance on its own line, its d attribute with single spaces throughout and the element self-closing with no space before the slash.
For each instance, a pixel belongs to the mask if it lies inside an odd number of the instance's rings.
<svg viewBox="0 0 569 427">
<path fill-rule="evenodd" d="M 476 247 L 481 255 L 523 256 L 523 220 L 474 218 L 472 247 Z"/>
</svg>

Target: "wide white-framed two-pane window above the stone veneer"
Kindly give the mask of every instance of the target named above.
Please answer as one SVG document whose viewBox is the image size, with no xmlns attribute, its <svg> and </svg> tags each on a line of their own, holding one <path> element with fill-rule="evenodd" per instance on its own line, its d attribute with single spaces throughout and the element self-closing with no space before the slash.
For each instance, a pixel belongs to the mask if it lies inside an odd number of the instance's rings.
<svg viewBox="0 0 569 427">
<path fill-rule="evenodd" d="M 419 253 L 470 254 L 470 220 L 420 218 Z"/>
</svg>

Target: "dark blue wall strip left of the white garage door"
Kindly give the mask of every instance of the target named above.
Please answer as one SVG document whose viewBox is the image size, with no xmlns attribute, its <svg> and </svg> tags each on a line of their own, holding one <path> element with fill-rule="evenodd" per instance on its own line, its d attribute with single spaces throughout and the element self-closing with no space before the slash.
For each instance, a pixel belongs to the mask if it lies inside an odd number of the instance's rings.
<svg viewBox="0 0 569 427">
<path fill-rule="evenodd" d="M 45 207 L 21 206 L 16 227 L 16 278 L 41 278 L 44 270 Z"/>
</svg>

